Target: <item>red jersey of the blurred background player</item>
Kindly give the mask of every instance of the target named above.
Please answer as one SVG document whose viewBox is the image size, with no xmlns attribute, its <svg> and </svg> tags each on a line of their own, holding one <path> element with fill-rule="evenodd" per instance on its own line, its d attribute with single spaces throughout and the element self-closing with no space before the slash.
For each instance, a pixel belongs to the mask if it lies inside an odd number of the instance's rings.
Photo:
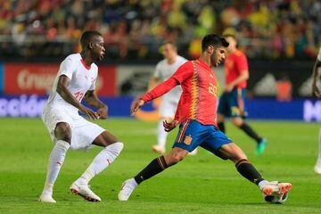
<svg viewBox="0 0 321 214">
<path fill-rule="evenodd" d="M 241 71 L 243 70 L 247 70 L 247 72 L 249 72 L 246 55 L 240 50 L 236 50 L 234 53 L 229 54 L 226 57 L 225 62 L 226 85 L 234 81 L 235 78 L 238 78 L 241 75 Z M 236 87 L 245 88 L 246 80 L 239 83 Z"/>
</svg>

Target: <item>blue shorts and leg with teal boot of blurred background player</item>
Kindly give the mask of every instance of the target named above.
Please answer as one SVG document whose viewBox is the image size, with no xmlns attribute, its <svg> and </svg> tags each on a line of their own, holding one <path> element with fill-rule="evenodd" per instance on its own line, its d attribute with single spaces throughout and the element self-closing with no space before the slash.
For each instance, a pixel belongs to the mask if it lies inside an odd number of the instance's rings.
<svg viewBox="0 0 321 214">
<path fill-rule="evenodd" d="M 244 102 L 245 95 L 245 89 L 234 89 L 231 92 L 229 97 L 231 119 L 235 127 L 242 129 L 246 135 L 250 136 L 257 142 L 256 153 L 257 155 L 260 155 L 264 152 L 268 141 L 267 139 L 259 136 L 254 129 L 243 120 L 247 115 Z"/>
</svg>

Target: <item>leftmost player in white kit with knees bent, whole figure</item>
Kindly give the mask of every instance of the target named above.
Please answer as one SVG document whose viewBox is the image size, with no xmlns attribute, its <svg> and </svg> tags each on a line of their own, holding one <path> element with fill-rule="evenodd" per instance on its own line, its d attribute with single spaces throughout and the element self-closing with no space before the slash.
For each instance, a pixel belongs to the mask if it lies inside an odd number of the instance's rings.
<svg viewBox="0 0 321 214">
<path fill-rule="evenodd" d="M 45 187 L 40 202 L 53 200 L 53 185 L 62 167 L 66 152 L 88 149 L 92 145 L 103 146 L 86 171 L 71 186 L 70 191 L 89 202 L 101 199 L 89 188 L 89 181 L 106 169 L 121 152 L 123 144 L 111 133 L 81 117 L 106 119 L 108 108 L 95 95 L 98 68 L 96 61 L 103 60 L 105 52 L 103 37 L 97 31 L 86 31 L 80 38 L 81 53 L 70 54 L 61 63 L 53 90 L 45 105 L 42 119 L 53 140 L 49 157 Z M 82 99 L 97 111 L 86 108 Z"/>
</svg>

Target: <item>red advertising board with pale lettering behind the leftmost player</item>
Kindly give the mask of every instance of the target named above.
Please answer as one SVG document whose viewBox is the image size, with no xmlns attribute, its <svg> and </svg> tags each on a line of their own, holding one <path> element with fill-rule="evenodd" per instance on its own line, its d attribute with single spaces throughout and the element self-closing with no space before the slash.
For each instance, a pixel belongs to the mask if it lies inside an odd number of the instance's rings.
<svg viewBox="0 0 321 214">
<path fill-rule="evenodd" d="M 53 87 L 59 64 L 4 64 L 4 93 L 7 95 L 46 95 Z M 100 66 L 96 81 L 98 95 L 116 95 L 115 66 Z"/>
</svg>

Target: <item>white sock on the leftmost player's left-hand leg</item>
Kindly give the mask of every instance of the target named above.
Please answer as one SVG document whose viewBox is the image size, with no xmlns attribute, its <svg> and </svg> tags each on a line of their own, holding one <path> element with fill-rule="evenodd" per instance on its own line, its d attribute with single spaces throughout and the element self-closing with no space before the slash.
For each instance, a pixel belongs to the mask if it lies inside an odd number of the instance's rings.
<svg viewBox="0 0 321 214">
<path fill-rule="evenodd" d="M 53 151 L 50 153 L 47 175 L 45 178 L 45 187 L 43 193 L 53 194 L 53 184 L 58 177 L 59 171 L 62 168 L 66 152 L 70 148 L 70 144 L 66 141 L 59 140 L 54 144 Z"/>
</svg>

